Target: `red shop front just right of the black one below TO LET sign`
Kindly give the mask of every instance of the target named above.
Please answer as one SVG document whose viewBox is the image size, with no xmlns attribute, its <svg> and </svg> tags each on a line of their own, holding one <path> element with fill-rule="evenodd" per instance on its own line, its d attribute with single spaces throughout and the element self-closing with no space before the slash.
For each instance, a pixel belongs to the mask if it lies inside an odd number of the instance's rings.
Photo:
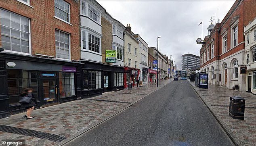
<svg viewBox="0 0 256 146">
<path fill-rule="evenodd" d="M 132 83 L 132 86 L 136 85 L 136 80 L 138 79 L 139 75 L 139 69 L 124 67 L 124 88 L 128 88 L 128 83 Z"/>
</svg>

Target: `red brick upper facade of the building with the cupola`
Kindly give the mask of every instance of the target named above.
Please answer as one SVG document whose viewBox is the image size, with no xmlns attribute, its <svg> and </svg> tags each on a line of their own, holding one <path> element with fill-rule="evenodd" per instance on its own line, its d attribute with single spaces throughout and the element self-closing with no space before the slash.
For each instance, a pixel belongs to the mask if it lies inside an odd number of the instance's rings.
<svg viewBox="0 0 256 146">
<path fill-rule="evenodd" d="M 216 26 L 214 27 L 214 30 L 210 34 L 210 36 L 205 38 L 204 40 L 205 44 L 202 45 L 201 47 L 200 56 L 202 56 L 204 52 L 206 52 L 206 56 L 204 57 L 207 58 L 208 44 L 209 44 L 210 54 L 212 54 L 210 41 L 213 39 L 214 40 L 214 58 L 210 58 L 210 60 L 207 60 L 205 63 L 203 63 L 201 65 L 201 68 L 205 67 L 211 62 L 214 62 L 215 60 L 218 60 L 218 55 L 219 55 L 219 60 L 222 60 L 223 58 L 226 58 L 227 56 L 230 56 L 235 52 L 238 52 L 244 49 L 245 38 L 243 35 L 243 31 L 244 31 L 243 27 L 248 25 L 248 23 L 256 17 L 255 8 L 256 8 L 255 0 L 236 0 L 236 2 L 233 4 L 231 9 L 225 16 L 225 18 L 222 20 L 222 22 L 217 23 Z M 235 11 L 233 12 L 233 10 Z M 232 33 L 231 26 L 233 25 L 231 23 L 234 23 L 234 21 L 237 21 L 237 19 L 235 19 L 237 16 L 238 16 L 237 18 L 238 19 L 238 41 L 237 41 L 238 45 L 235 47 L 231 47 L 231 33 Z M 218 30 L 219 30 L 219 34 L 218 34 Z M 221 34 L 225 30 L 227 31 L 227 52 L 222 54 L 223 44 L 222 44 Z"/>
</svg>

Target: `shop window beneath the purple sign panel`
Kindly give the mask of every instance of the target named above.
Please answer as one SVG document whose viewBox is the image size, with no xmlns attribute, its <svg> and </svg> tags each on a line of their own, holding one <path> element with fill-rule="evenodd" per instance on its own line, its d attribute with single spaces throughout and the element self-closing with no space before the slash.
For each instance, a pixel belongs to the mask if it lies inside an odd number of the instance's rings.
<svg viewBox="0 0 256 146">
<path fill-rule="evenodd" d="M 59 73 L 59 92 L 60 97 L 75 95 L 74 73 Z"/>
</svg>

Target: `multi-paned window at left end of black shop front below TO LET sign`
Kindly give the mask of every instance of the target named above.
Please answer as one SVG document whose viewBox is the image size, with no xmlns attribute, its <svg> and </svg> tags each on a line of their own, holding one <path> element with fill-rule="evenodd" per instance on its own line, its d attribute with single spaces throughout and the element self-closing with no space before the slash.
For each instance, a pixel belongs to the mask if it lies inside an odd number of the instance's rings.
<svg viewBox="0 0 256 146">
<path fill-rule="evenodd" d="M 100 71 L 84 71 L 84 90 L 101 88 Z"/>
</svg>

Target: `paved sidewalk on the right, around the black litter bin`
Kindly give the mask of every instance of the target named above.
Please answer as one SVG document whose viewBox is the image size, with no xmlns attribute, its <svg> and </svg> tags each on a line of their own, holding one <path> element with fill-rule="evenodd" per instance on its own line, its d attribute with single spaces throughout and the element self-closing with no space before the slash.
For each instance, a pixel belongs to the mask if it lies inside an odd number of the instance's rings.
<svg viewBox="0 0 256 146">
<path fill-rule="evenodd" d="M 199 89 L 195 82 L 190 83 L 239 146 L 256 146 L 255 95 L 248 92 L 233 92 L 223 86 L 209 85 L 208 89 Z M 229 117 L 229 97 L 235 95 L 246 99 L 244 120 Z"/>
</svg>

